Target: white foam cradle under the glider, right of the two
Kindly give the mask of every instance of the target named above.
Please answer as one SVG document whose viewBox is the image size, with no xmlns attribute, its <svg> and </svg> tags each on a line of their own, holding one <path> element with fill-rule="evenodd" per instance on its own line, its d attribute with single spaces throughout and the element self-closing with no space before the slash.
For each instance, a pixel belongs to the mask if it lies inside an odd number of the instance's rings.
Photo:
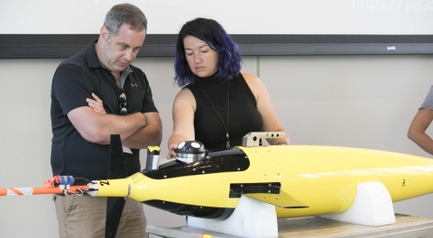
<svg viewBox="0 0 433 238">
<path fill-rule="evenodd" d="M 318 216 L 339 222 L 370 226 L 395 224 L 390 193 L 378 181 L 358 184 L 354 204 L 347 211 Z"/>
</svg>

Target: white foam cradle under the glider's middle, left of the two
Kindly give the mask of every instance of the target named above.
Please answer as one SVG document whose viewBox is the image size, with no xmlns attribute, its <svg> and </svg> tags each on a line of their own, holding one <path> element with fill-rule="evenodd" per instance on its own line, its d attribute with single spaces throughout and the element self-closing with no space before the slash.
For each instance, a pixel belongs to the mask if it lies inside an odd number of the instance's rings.
<svg viewBox="0 0 433 238">
<path fill-rule="evenodd" d="M 235 211 L 226 220 L 189 216 L 188 225 L 240 237 L 278 237 L 275 207 L 245 196 L 239 199 Z"/>
</svg>

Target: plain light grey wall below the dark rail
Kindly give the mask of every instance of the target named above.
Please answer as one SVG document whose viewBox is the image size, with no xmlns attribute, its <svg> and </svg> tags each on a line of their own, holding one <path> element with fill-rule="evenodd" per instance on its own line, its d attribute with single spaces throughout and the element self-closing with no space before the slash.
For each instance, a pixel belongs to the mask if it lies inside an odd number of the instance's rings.
<svg viewBox="0 0 433 238">
<path fill-rule="evenodd" d="M 0 59 L 0 188 L 42 187 L 51 177 L 50 90 L 62 59 Z M 173 58 L 140 58 L 163 123 L 161 157 L 172 130 Z M 340 145 L 431 158 L 406 137 L 432 85 L 432 55 L 246 57 L 272 95 L 293 144 Z M 428 129 L 433 135 L 433 129 Z M 426 185 L 431 186 L 431 185 Z M 432 195 L 394 205 L 433 218 Z M 185 224 L 145 206 L 149 224 Z M 0 197 L 0 237 L 58 237 L 51 196 Z"/>
</svg>

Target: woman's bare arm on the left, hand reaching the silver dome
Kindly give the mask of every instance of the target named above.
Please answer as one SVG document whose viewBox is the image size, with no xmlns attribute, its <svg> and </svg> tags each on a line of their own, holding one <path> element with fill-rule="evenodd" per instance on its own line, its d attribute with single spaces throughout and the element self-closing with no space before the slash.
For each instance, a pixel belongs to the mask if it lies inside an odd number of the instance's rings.
<svg viewBox="0 0 433 238">
<path fill-rule="evenodd" d="M 188 88 L 180 90 L 173 102 L 173 133 L 170 136 L 167 159 L 176 156 L 174 149 L 182 141 L 193 141 L 196 100 Z"/>
</svg>

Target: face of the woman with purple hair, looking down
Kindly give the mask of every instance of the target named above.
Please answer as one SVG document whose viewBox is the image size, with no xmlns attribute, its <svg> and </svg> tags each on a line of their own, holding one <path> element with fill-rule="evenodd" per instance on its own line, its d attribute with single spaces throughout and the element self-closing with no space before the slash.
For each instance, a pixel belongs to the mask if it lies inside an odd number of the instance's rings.
<svg viewBox="0 0 433 238">
<path fill-rule="evenodd" d="M 194 36 L 187 36 L 183 39 L 183 47 L 189 69 L 195 75 L 205 78 L 217 72 L 218 52 L 212 50 L 205 41 Z"/>
</svg>

